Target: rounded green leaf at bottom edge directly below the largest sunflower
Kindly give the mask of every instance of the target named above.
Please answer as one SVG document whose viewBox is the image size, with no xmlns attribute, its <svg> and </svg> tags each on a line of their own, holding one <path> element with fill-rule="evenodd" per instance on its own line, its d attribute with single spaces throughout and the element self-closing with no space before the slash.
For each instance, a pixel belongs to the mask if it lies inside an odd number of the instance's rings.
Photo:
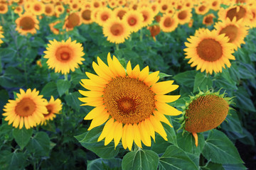
<svg viewBox="0 0 256 170">
<path fill-rule="evenodd" d="M 136 152 L 129 152 L 122 159 L 122 169 L 156 169 L 159 164 L 159 156 L 151 150 L 139 149 Z"/>
</svg>

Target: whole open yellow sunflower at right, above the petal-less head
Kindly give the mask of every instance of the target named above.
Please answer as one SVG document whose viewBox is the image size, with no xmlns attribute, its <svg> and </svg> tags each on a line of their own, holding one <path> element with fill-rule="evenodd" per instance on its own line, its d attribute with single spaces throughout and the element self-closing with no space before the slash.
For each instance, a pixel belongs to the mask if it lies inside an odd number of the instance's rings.
<svg viewBox="0 0 256 170">
<path fill-rule="evenodd" d="M 229 60 L 235 60 L 232 55 L 234 45 L 228 42 L 228 37 L 224 34 L 218 35 L 217 31 L 206 30 L 198 36 L 191 36 L 188 42 L 185 42 L 186 59 L 190 59 L 188 64 L 191 67 L 196 67 L 196 70 L 201 69 L 201 72 L 206 70 L 206 73 L 222 72 L 222 67 L 230 67 Z"/>
</svg>

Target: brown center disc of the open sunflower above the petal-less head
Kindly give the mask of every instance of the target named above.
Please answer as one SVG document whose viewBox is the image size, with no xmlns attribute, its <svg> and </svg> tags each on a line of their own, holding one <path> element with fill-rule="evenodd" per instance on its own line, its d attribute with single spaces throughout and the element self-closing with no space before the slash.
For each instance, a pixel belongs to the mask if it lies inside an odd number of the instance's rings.
<svg viewBox="0 0 256 170">
<path fill-rule="evenodd" d="M 196 47 L 196 52 L 201 59 L 207 62 L 215 62 L 223 55 L 223 48 L 220 42 L 212 38 L 203 39 Z"/>
</svg>

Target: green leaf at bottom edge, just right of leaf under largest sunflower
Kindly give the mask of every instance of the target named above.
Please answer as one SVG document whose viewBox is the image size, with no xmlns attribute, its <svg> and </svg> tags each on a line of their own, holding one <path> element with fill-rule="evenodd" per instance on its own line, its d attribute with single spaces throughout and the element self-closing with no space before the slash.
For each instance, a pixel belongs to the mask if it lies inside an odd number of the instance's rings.
<svg viewBox="0 0 256 170">
<path fill-rule="evenodd" d="M 182 149 L 176 146 L 169 146 L 166 152 L 159 159 L 159 170 L 173 169 L 198 169 L 198 166 L 191 160 Z"/>
</svg>

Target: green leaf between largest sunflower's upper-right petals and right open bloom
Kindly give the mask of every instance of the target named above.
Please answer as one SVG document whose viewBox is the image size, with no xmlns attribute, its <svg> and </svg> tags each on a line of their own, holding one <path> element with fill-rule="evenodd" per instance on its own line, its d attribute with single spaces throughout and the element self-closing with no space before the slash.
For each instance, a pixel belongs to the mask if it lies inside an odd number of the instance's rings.
<svg viewBox="0 0 256 170">
<path fill-rule="evenodd" d="M 174 76 L 174 79 L 178 82 L 178 84 L 184 84 L 188 87 L 193 87 L 194 80 L 196 77 L 196 71 L 186 71 Z"/>
</svg>

